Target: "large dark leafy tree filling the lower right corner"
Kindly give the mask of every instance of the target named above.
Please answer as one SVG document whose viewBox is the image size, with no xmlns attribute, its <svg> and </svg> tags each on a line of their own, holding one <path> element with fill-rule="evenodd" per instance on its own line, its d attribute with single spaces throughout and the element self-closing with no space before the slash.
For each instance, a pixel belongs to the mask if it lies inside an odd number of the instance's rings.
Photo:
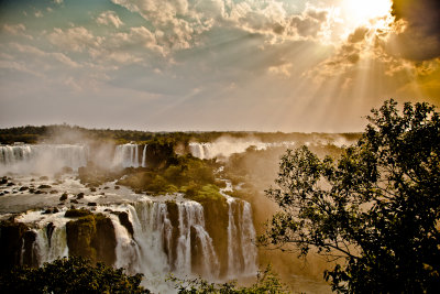
<svg viewBox="0 0 440 294">
<path fill-rule="evenodd" d="M 280 207 L 261 237 L 337 261 L 324 272 L 348 293 L 424 293 L 440 288 L 440 117 L 428 104 L 393 99 L 373 109 L 362 138 L 339 160 L 306 146 L 282 157 Z"/>
</svg>

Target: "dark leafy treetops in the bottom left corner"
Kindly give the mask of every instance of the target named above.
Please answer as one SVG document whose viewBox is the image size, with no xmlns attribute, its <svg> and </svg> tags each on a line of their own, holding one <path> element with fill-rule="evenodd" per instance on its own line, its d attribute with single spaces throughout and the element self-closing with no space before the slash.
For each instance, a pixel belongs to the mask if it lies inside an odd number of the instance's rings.
<svg viewBox="0 0 440 294">
<path fill-rule="evenodd" d="M 79 257 L 58 259 L 42 268 L 16 268 L 0 275 L 0 293 L 150 293 L 140 286 L 142 274 L 103 263 L 92 266 Z"/>
</svg>

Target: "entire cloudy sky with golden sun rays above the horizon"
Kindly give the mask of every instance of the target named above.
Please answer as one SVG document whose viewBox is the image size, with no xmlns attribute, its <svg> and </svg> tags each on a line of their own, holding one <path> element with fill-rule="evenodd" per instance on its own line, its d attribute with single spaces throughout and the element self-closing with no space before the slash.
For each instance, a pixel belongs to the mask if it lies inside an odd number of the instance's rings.
<svg viewBox="0 0 440 294">
<path fill-rule="evenodd" d="M 356 132 L 440 106 L 438 0 L 0 0 L 0 128 Z"/>
</svg>

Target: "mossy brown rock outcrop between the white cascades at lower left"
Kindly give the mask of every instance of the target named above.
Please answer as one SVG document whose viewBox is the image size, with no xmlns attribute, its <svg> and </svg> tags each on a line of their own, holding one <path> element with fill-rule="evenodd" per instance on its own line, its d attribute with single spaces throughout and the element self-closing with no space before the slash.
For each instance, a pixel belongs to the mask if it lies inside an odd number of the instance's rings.
<svg viewBox="0 0 440 294">
<path fill-rule="evenodd" d="M 97 214 L 70 220 L 66 225 L 66 232 L 69 255 L 114 264 L 117 239 L 113 224 L 106 216 Z"/>
</svg>

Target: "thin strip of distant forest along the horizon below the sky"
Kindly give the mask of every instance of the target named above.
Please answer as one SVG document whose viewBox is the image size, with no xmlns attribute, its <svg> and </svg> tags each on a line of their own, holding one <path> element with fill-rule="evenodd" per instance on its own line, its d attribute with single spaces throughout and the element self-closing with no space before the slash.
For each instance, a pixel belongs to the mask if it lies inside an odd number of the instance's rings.
<svg viewBox="0 0 440 294">
<path fill-rule="evenodd" d="M 284 133 L 284 132 L 231 132 L 231 131 L 212 131 L 212 132 L 151 132 L 135 130 L 110 130 L 110 129 L 86 129 L 69 124 L 51 124 L 51 126 L 25 126 L 8 129 L 0 129 L 0 143 L 12 144 L 14 142 L 23 143 L 80 143 L 87 140 L 108 141 L 116 144 L 128 142 L 145 143 L 148 141 L 162 142 L 212 142 L 221 137 L 233 139 L 253 138 L 262 142 L 279 142 L 295 141 L 309 142 L 314 140 L 329 140 L 337 138 L 355 141 L 360 138 L 360 133 Z"/>
</svg>

